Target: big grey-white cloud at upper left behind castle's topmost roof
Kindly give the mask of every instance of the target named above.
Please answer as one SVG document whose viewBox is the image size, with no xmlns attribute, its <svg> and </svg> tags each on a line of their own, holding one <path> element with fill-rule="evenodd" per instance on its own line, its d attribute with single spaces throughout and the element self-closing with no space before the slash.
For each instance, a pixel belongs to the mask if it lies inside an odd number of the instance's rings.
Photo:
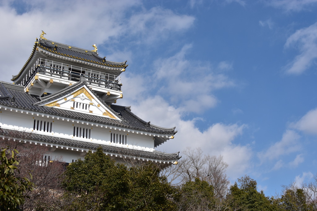
<svg viewBox="0 0 317 211">
<path fill-rule="evenodd" d="M 25 4 L 27 10 L 22 14 L 18 14 L 9 3 L 0 4 L 0 26 L 5 32 L 0 40 L 2 49 L 5 49 L 0 62 L 3 70 L 16 70 L 14 73 L 3 71 L 2 80 L 9 81 L 11 74 L 18 73 L 26 61 L 21 58 L 29 57 L 41 30 L 47 34 L 47 39 L 93 49 L 91 46 L 95 43 L 97 46 L 105 43 L 115 46 L 123 38 L 133 40 L 131 45 L 146 44 L 145 41 L 154 39 L 162 41 L 189 29 L 195 20 L 193 16 L 160 7 L 146 10 L 139 0 L 89 3 L 82 0 L 25 1 Z M 135 14 L 134 11 L 138 10 L 142 12 Z M 129 52 L 129 49 L 125 52 L 116 48 L 110 50 L 113 59 L 120 55 L 131 58 Z"/>
</svg>

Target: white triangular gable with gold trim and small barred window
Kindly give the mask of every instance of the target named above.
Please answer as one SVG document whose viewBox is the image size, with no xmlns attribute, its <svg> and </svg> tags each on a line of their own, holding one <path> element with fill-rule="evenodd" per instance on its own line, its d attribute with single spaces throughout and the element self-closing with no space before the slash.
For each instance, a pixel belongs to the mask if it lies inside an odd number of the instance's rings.
<svg viewBox="0 0 317 211">
<path fill-rule="evenodd" d="M 52 94 L 51 99 L 48 96 L 48 98 L 39 102 L 38 105 L 120 120 L 112 109 L 100 102 L 85 84 L 75 90 L 64 89 L 58 95 Z"/>
</svg>

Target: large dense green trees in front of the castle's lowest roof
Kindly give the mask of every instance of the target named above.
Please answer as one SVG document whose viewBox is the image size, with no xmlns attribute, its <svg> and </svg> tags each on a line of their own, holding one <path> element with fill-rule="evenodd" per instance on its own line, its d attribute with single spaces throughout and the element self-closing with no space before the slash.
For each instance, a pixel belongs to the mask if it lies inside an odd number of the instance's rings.
<svg viewBox="0 0 317 211">
<path fill-rule="evenodd" d="M 64 173 L 64 210 L 174 210 L 175 189 L 152 164 L 127 169 L 99 147 L 77 160 Z"/>
</svg>

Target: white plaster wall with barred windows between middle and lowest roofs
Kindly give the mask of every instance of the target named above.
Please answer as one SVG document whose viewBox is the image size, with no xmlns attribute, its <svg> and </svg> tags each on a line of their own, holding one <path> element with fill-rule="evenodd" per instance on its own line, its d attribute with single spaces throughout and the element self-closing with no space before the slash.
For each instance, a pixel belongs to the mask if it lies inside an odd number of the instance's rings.
<svg viewBox="0 0 317 211">
<path fill-rule="evenodd" d="M 25 112 L 15 112 L 6 110 L 5 112 L 1 113 L 1 124 L 6 128 L 11 129 L 19 129 L 19 130 L 27 130 L 27 131 L 33 131 L 33 125 L 34 125 L 34 119 L 36 120 L 42 120 L 42 121 L 49 121 L 52 123 L 52 132 L 44 132 L 44 131 L 37 131 L 34 130 L 34 133 L 37 134 L 46 134 L 46 135 L 54 135 L 56 137 L 64 137 L 74 140 L 81 140 L 81 141 L 87 141 L 87 142 L 93 142 L 96 144 L 110 144 L 114 146 L 120 146 L 120 147 L 128 147 L 133 149 L 141 149 L 141 150 L 150 150 L 154 148 L 154 140 L 153 136 L 148 136 L 145 134 L 137 134 L 132 132 L 127 132 L 123 130 L 114 130 L 113 128 L 110 129 L 105 127 L 96 127 L 91 126 L 91 124 L 80 124 L 77 122 L 72 121 L 66 121 L 62 120 L 62 117 L 59 117 L 60 119 L 57 119 L 55 117 L 47 118 L 47 116 L 42 115 L 37 116 L 36 114 L 31 115 L 31 112 L 29 114 L 26 114 Z M 74 126 L 81 127 L 81 128 L 87 128 L 91 129 L 90 137 L 91 139 L 87 138 L 80 138 L 80 137 L 73 137 L 74 132 Z M 110 143 L 110 134 L 121 134 L 126 136 L 126 144 L 114 144 Z"/>
</svg>

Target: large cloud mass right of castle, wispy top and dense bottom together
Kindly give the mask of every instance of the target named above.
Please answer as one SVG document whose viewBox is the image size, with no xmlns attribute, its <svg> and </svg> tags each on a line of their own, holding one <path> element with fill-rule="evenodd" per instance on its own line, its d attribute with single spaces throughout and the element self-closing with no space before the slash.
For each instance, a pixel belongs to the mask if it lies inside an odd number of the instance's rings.
<svg viewBox="0 0 317 211">
<path fill-rule="evenodd" d="M 217 98 L 213 95 L 214 90 L 235 86 L 229 76 L 223 73 L 233 68 L 232 64 L 220 62 L 214 70 L 210 68 L 209 62 L 188 60 L 186 54 L 190 50 L 191 45 L 184 45 L 174 55 L 154 61 L 148 77 L 138 74 L 124 76 L 126 97 L 120 102 L 133 105 L 132 112 L 146 121 L 151 120 L 152 124 L 176 126 L 179 132 L 175 140 L 169 140 L 159 150 L 178 151 L 189 146 L 201 147 L 205 153 L 221 154 L 229 164 L 228 175 L 237 178 L 250 168 L 253 156 L 249 145 L 235 143 L 247 125 L 218 122 L 201 131 L 196 126 L 199 118 L 184 118 L 188 112 L 204 111 L 215 106 Z"/>
</svg>

